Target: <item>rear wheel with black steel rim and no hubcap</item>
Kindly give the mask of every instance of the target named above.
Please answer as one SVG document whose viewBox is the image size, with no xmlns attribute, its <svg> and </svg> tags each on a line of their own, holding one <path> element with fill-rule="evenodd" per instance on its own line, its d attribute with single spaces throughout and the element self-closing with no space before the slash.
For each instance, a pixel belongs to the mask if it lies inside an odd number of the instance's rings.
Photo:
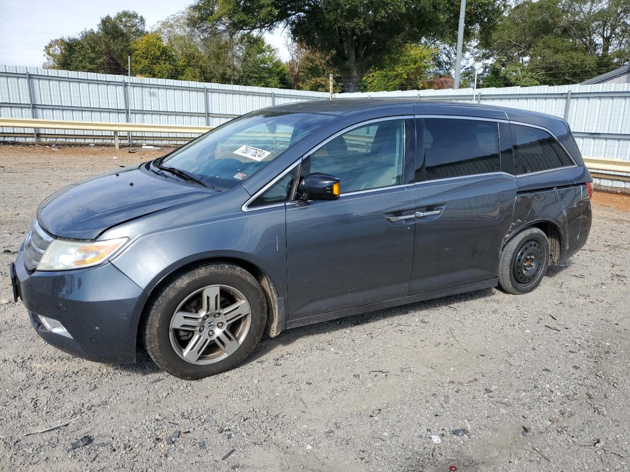
<svg viewBox="0 0 630 472">
<path fill-rule="evenodd" d="M 534 290 L 549 266 L 549 240 L 539 228 L 526 228 L 503 248 L 499 284 L 503 291 L 522 295 Z"/>
</svg>

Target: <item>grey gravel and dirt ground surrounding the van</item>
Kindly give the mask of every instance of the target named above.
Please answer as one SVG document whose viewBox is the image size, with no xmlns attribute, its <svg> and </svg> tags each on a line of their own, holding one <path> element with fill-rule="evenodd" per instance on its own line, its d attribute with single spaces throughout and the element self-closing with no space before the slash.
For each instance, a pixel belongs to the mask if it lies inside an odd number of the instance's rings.
<svg viewBox="0 0 630 472">
<path fill-rule="evenodd" d="M 47 194 L 163 153 L 0 145 L 0 299 Z M 534 293 L 288 330 L 197 382 L 72 357 L 0 305 L 0 471 L 627 470 L 629 199 L 595 193 L 587 246 Z"/>
</svg>

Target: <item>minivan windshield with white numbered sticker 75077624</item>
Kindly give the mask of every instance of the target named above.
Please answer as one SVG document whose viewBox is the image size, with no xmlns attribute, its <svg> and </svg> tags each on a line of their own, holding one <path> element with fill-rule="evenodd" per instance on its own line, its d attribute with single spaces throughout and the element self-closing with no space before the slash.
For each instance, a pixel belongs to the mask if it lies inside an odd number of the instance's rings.
<svg viewBox="0 0 630 472">
<path fill-rule="evenodd" d="M 268 110 L 250 113 L 183 145 L 159 164 L 214 187 L 232 188 L 332 118 Z"/>
</svg>

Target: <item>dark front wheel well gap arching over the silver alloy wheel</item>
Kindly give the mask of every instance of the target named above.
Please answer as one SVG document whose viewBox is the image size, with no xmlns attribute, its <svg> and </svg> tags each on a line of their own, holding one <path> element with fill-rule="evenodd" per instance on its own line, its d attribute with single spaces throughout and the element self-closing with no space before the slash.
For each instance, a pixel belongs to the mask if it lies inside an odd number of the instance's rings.
<svg viewBox="0 0 630 472">
<path fill-rule="evenodd" d="M 267 305 L 267 320 L 265 328 L 266 333 L 270 337 L 276 337 L 284 330 L 286 320 L 284 303 L 280 303 L 280 299 L 278 298 L 278 293 L 272 279 L 258 265 L 241 257 L 235 256 L 200 257 L 199 259 L 188 261 L 178 267 L 172 268 L 168 273 L 164 274 L 163 277 L 151 287 L 151 289 L 149 289 L 146 300 L 142 305 L 142 311 L 140 312 L 137 327 L 142 324 L 142 320 L 144 320 L 144 318 L 147 316 L 147 305 L 149 305 L 153 296 L 155 296 L 159 289 L 161 289 L 165 284 L 169 283 L 169 281 L 177 277 L 179 274 L 185 273 L 195 266 L 199 266 L 200 264 L 206 264 L 209 262 L 223 262 L 224 264 L 232 264 L 234 266 L 241 267 L 249 274 L 251 274 L 260 284 L 261 288 L 263 289 L 263 293 L 265 293 L 265 300 Z M 136 340 L 137 344 L 139 345 L 143 343 L 142 332 L 140 329 L 137 329 Z"/>
</svg>

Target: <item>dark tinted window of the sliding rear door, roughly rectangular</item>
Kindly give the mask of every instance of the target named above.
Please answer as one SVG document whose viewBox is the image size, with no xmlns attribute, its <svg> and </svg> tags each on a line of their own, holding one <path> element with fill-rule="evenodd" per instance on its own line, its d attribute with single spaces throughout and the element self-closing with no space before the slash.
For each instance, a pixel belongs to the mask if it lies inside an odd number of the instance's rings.
<svg viewBox="0 0 630 472">
<path fill-rule="evenodd" d="M 425 118 L 426 179 L 499 171 L 499 133 L 493 121 Z"/>
</svg>

